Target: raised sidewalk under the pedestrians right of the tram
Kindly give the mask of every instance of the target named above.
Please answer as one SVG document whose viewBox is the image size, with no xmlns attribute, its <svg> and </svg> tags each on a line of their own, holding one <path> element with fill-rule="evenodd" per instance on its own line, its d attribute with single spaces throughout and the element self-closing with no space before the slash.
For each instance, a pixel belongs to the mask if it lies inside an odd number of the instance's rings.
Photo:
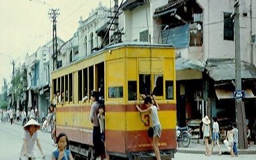
<svg viewBox="0 0 256 160">
<path fill-rule="evenodd" d="M 181 145 L 180 145 L 181 146 Z M 221 153 L 228 153 L 227 147 L 220 143 L 221 146 Z M 211 149 L 211 145 L 209 145 Z M 193 153 L 193 154 L 205 154 L 205 145 L 203 143 L 193 143 L 191 141 L 190 145 L 188 147 L 178 147 L 178 153 Z M 215 146 L 213 148 L 213 155 L 217 155 L 219 153 L 218 147 Z M 248 147 L 248 149 L 238 149 L 239 155 L 250 155 L 250 154 L 256 154 L 256 145 L 253 145 L 251 143 L 251 147 Z"/>
</svg>

